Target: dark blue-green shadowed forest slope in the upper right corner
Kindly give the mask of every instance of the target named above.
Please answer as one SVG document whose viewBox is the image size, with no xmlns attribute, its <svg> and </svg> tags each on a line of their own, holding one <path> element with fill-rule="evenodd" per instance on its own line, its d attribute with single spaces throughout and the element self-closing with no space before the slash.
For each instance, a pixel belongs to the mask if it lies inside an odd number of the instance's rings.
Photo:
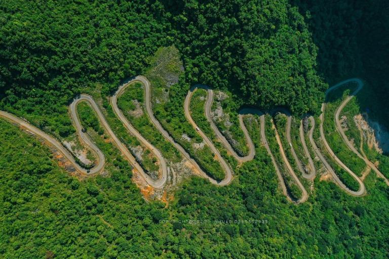
<svg viewBox="0 0 389 259">
<path fill-rule="evenodd" d="M 318 71 L 329 83 L 350 76 L 366 80 L 374 89 L 362 110 L 389 128 L 389 5 L 384 0 L 299 1 L 315 44 Z"/>
</svg>

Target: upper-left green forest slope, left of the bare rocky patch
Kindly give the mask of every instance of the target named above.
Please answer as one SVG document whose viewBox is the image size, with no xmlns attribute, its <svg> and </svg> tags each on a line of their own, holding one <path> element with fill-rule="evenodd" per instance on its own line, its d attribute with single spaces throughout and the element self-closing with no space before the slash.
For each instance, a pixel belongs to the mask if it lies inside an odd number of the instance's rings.
<svg viewBox="0 0 389 259">
<path fill-rule="evenodd" d="M 150 4 L 7 1 L 0 4 L 0 98 L 55 132 L 68 102 L 96 82 L 108 94 L 171 42 Z M 146 36 L 145 36 L 146 35 Z M 71 125 L 71 124 L 70 124 Z"/>
</svg>

